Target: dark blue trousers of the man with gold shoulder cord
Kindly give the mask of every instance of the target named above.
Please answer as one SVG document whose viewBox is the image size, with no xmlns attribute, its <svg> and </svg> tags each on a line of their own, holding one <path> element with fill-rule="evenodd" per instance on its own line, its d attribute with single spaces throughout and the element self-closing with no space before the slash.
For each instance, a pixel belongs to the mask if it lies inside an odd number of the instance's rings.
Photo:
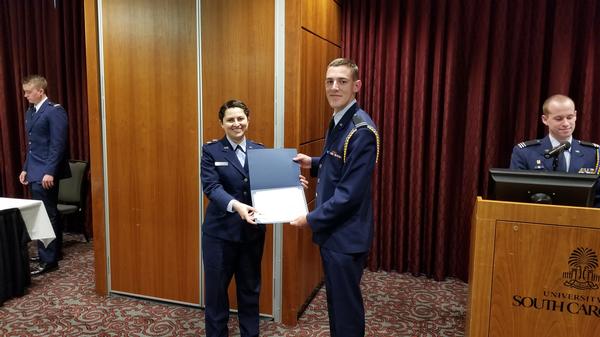
<svg viewBox="0 0 600 337">
<path fill-rule="evenodd" d="M 331 337 L 365 335 L 365 308 L 360 292 L 367 252 L 345 254 L 321 247 Z"/>
</svg>

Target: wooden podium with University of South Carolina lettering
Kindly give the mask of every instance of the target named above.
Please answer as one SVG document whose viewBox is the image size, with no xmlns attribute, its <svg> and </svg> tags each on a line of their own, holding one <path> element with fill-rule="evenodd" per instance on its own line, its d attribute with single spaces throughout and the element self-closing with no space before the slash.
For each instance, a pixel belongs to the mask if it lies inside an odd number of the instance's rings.
<svg viewBox="0 0 600 337">
<path fill-rule="evenodd" d="M 600 335 L 600 209 L 477 198 L 470 337 Z"/>
</svg>

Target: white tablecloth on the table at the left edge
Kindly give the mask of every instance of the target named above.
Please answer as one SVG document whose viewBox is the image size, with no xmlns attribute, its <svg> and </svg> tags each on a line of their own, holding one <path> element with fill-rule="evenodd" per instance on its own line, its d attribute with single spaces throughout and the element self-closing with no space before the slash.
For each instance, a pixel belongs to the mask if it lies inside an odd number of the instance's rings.
<svg viewBox="0 0 600 337">
<path fill-rule="evenodd" d="M 40 240 L 48 246 L 56 238 L 46 207 L 40 200 L 0 198 L 0 210 L 18 208 L 31 240 Z"/>
</svg>

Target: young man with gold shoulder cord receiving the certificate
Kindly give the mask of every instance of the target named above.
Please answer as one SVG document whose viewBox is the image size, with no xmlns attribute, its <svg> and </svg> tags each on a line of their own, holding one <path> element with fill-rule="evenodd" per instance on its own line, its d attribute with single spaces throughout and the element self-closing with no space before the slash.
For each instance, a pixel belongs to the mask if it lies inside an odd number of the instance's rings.
<svg viewBox="0 0 600 337">
<path fill-rule="evenodd" d="M 318 177 L 315 209 L 291 224 L 310 226 L 320 247 L 332 337 L 365 334 L 360 280 L 373 238 L 371 176 L 379 138 L 356 102 L 361 85 L 353 61 L 340 58 L 328 65 L 325 92 L 333 116 L 323 153 L 294 158 Z"/>
</svg>

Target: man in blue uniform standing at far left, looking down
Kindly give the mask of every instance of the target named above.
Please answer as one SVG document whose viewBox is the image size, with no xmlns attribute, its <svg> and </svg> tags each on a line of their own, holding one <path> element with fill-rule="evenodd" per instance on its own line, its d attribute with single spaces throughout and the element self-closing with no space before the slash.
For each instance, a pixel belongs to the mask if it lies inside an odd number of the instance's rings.
<svg viewBox="0 0 600 337">
<path fill-rule="evenodd" d="M 46 96 L 46 79 L 33 75 L 23 80 L 23 95 L 31 106 L 25 115 L 27 153 L 19 181 L 31 197 L 44 203 L 56 239 L 48 247 L 38 242 L 39 264 L 32 275 L 58 268 L 62 253 L 62 224 L 58 214 L 58 181 L 71 176 L 67 156 L 67 112 Z"/>
</svg>

